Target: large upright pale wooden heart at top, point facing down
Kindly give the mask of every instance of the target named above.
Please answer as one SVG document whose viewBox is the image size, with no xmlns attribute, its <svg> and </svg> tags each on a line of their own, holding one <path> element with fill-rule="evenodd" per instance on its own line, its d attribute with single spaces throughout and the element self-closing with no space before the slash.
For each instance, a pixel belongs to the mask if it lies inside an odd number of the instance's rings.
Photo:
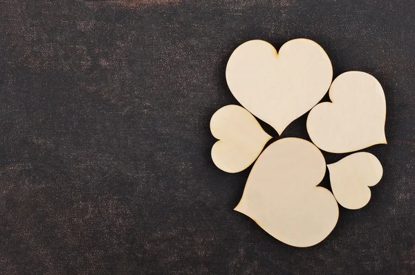
<svg viewBox="0 0 415 275">
<path fill-rule="evenodd" d="M 332 78 L 329 57 L 309 39 L 288 41 L 279 53 L 268 42 L 248 41 L 235 49 L 226 66 L 234 97 L 279 134 L 322 99 Z"/>
</svg>

